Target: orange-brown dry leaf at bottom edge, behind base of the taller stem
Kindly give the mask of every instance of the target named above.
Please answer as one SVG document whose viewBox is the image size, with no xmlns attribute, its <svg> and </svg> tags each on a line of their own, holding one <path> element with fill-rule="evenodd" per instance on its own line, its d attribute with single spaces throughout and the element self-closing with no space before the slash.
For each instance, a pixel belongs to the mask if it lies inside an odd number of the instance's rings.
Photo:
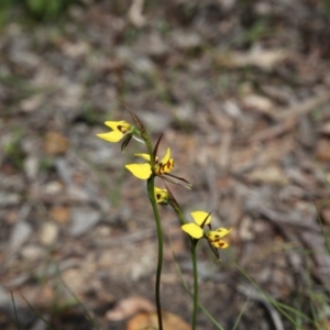
<svg viewBox="0 0 330 330">
<path fill-rule="evenodd" d="M 164 330 L 189 330 L 190 326 L 182 319 L 182 317 L 169 312 L 163 311 L 163 328 Z M 141 330 L 141 329 L 158 329 L 157 314 L 141 312 L 134 316 L 128 322 L 127 330 Z"/>
</svg>

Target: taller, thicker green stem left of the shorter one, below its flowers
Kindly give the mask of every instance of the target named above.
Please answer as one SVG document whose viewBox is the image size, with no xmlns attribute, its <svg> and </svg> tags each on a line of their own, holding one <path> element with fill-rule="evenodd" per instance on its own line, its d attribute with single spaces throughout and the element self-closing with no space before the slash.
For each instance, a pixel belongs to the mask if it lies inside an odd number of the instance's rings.
<svg viewBox="0 0 330 330">
<path fill-rule="evenodd" d="M 163 230 L 160 218 L 160 212 L 157 204 L 155 200 L 155 176 L 152 175 L 147 180 L 147 194 L 154 211 L 154 218 L 156 221 L 157 229 L 157 241 L 158 241 L 158 261 L 157 261 L 157 272 L 156 272 L 156 283 L 155 283 L 155 299 L 156 299 L 156 309 L 158 318 L 158 330 L 163 330 L 163 320 L 162 320 L 162 308 L 161 308 L 161 275 L 163 266 Z"/>
</svg>

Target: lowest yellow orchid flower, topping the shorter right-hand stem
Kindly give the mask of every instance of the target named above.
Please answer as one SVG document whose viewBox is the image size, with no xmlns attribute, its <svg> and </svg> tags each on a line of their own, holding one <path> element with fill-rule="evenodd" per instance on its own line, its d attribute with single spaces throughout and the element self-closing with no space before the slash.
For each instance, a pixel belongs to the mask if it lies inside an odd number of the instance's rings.
<svg viewBox="0 0 330 330">
<path fill-rule="evenodd" d="M 231 232 L 231 229 L 218 228 L 216 230 L 210 230 L 209 232 L 204 232 L 204 227 L 211 224 L 211 216 L 205 211 L 195 211 L 190 213 L 194 218 L 195 223 L 186 223 L 182 226 L 183 231 L 188 233 L 194 239 L 206 238 L 210 244 L 217 249 L 226 249 L 229 246 L 228 243 L 221 239 Z"/>
</svg>

